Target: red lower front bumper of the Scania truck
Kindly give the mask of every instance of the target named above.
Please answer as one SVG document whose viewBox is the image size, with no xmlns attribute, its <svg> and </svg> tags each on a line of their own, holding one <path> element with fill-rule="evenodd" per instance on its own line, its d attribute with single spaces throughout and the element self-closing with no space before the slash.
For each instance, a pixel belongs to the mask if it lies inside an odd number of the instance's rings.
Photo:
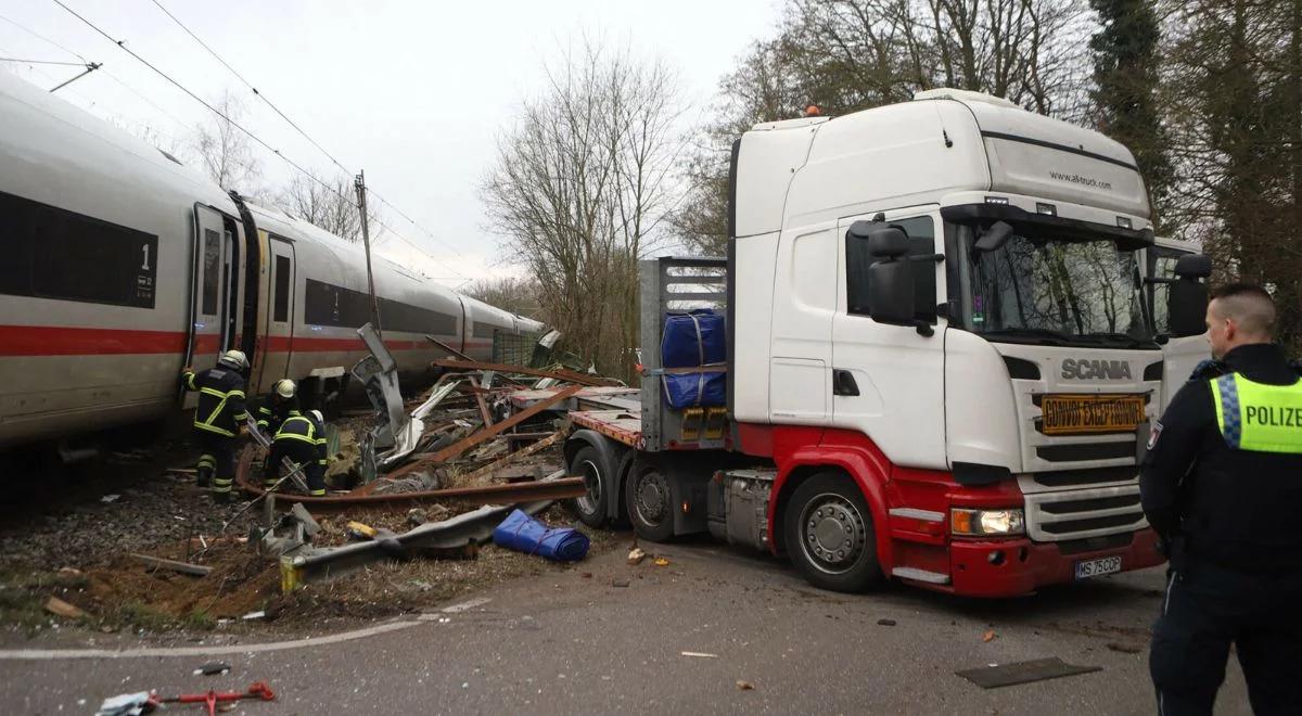
<svg viewBox="0 0 1302 716">
<path fill-rule="evenodd" d="M 991 553 L 996 551 L 1003 556 L 992 561 Z M 941 588 L 963 596 L 1018 596 L 1049 585 L 1074 581 L 1075 564 L 1081 560 L 1115 555 L 1121 556 L 1121 571 L 1167 561 L 1157 552 L 1157 534 L 1152 529 L 1135 532 L 1126 547 L 1074 555 L 1064 555 L 1057 544 L 1032 543 L 1030 539 L 952 540 L 949 543 L 952 583 Z"/>
</svg>

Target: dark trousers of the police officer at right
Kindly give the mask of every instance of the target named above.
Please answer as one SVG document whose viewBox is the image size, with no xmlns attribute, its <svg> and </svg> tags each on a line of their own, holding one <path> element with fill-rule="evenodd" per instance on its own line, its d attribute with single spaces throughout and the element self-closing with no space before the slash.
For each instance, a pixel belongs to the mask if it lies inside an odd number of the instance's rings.
<svg viewBox="0 0 1302 716">
<path fill-rule="evenodd" d="M 1256 716 L 1302 713 L 1302 574 L 1228 570 L 1197 558 L 1167 574 L 1148 669 L 1161 716 L 1211 715 L 1233 643 Z"/>
</svg>

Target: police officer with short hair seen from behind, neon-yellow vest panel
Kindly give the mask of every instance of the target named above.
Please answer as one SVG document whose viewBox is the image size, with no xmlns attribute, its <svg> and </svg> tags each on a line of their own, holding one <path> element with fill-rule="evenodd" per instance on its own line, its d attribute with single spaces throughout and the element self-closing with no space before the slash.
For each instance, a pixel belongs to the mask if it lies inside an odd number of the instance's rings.
<svg viewBox="0 0 1302 716">
<path fill-rule="evenodd" d="M 1256 713 L 1302 713 L 1302 380 L 1262 288 L 1213 293 L 1202 363 L 1154 426 L 1143 510 L 1169 548 L 1150 670 L 1163 715 L 1211 713 L 1237 648 Z"/>
</svg>

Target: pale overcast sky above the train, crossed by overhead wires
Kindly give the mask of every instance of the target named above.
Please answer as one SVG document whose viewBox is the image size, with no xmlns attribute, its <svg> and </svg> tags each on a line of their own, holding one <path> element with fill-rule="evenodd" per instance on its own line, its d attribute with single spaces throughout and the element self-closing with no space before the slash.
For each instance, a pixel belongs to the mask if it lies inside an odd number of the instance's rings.
<svg viewBox="0 0 1302 716">
<path fill-rule="evenodd" d="M 319 176 L 329 160 L 169 20 L 154 0 L 62 0 L 204 99 L 245 98 L 245 126 Z M 771 34 L 779 0 L 370 1 L 159 0 L 340 163 L 430 230 L 389 212 L 392 227 L 441 263 L 423 267 L 450 285 L 509 271 L 484 225 L 475 186 L 496 134 L 523 98 L 542 90 L 540 64 L 583 34 L 659 56 L 681 76 L 697 122 L 720 77 Z M 21 26 L 21 27 L 20 27 Z M 26 30 L 23 30 L 23 27 Z M 52 0 L 0 0 L 0 57 L 103 62 L 59 91 L 92 113 L 150 126 L 185 142 L 207 112 Z M 53 87 L 70 66 L 0 62 Z M 264 184 L 293 169 L 256 148 Z M 413 251 L 388 240 L 400 260 Z"/>
</svg>

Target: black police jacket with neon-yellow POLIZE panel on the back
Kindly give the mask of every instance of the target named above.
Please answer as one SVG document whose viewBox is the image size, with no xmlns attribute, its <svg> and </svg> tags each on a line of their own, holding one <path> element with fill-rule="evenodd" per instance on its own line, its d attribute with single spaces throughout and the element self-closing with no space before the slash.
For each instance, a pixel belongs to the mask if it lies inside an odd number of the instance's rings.
<svg viewBox="0 0 1302 716">
<path fill-rule="evenodd" d="M 1302 574 L 1302 383 L 1276 345 L 1243 345 L 1199 370 L 1154 426 L 1139 475 L 1144 514 L 1172 564 Z"/>
</svg>

